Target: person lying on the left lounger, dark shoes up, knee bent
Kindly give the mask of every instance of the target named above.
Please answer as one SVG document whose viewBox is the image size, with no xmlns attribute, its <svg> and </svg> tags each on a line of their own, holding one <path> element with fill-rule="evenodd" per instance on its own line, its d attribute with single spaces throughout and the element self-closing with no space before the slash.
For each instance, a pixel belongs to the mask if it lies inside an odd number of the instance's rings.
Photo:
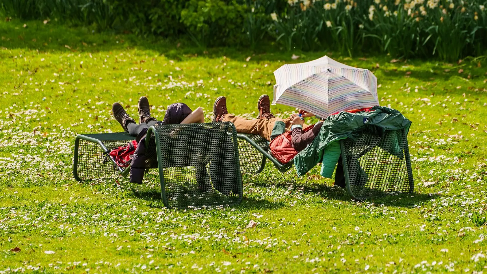
<svg viewBox="0 0 487 274">
<path fill-rule="evenodd" d="M 137 106 L 139 110 L 139 124 L 125 112 L 120 103 L 113 103 L 112 106 L 112 112 L 115 119 L 120 123 L 124 131 L 128 132 L 133 137 L 137 137 L 142 131 L 145 131 L 153 125 L 205 122 L 205 116 L 201 107 L 192 111 L 185 103 L 173 103 L 169 105 L 162 121 L 158 121 L 156 118 L 150 116 L 150 105 L 147 97 L 142 96 L 139 98 Z"/>
</svg>

